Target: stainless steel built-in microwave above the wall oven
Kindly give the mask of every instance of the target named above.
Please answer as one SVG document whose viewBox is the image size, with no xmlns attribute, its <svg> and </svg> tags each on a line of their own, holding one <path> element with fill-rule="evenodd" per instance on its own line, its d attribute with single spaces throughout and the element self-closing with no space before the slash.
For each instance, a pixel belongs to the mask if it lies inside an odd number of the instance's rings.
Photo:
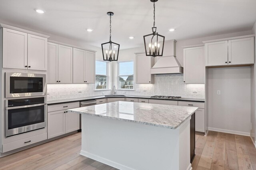
<svg viewBox="0 0 256 170">
<path fill-rule="evenodd" d="M 5 97 L 46 95 L 46 75 L 34 73 L 5 73 Z"/>
</svg>

